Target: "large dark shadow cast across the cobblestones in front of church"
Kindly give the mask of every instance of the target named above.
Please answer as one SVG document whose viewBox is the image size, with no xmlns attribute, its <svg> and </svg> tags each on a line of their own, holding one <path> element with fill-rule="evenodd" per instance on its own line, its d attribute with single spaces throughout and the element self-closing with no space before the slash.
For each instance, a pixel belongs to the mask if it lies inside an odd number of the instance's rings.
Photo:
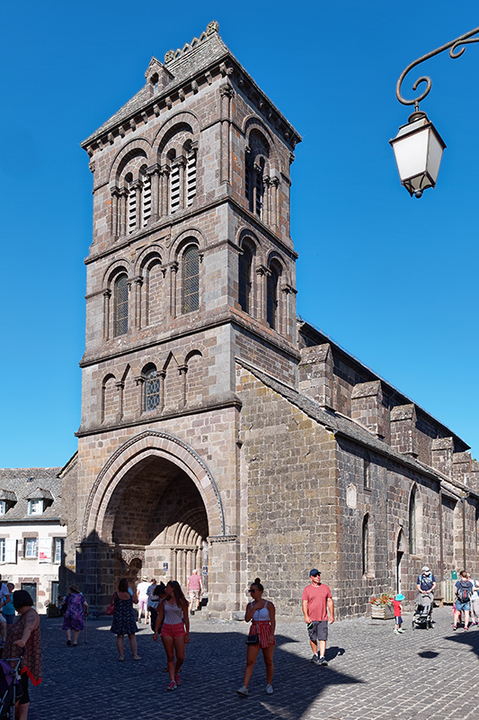
<svg viewBox="0 0 479 720">
<path fill-rule="evenodd" d="M 194 715 L 195 720 L 244 720 L 261 715 L 262 720 L 299 720 L 308 707 L 331 685 L 361 682 L 334 669 L 334 659 L 344 653 L 332 646 L 328 667 L 309 662 L 310 653 L 299 657 L 295 650 L 306 647 L 285 635 L 277 635 L 274 694 L 265 694 L 266 674 L 260 652 L 253 671 L 249 698 L 236 695 L 242 685 L 246 645 L 244 632 L 232 626 L 191 628 L 182 671 L 182 686 L 166 691 L 163 646 L 155 644 L 149 628 L 137 634 L 140 662 L 133 662 L 126 643 L 126 662 L 118 662 L 115 637 L 108 621 L 88 626 L 87 644 L 80 636 L 77 648 L 67 647 L 61 620 L 42 621 L 44 680 L 31 692 L 31 720 L 104 720 L 118 715 L 140 715 L 142 720 L 159 716 L 167 703 L 168 714 L 177 718 Z"/>
</svg>

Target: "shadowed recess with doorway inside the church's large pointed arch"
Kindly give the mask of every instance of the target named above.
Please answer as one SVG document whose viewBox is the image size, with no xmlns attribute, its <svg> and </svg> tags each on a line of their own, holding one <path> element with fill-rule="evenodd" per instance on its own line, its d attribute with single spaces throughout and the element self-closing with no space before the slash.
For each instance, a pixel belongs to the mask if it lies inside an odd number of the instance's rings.
<svg viewBox="0 0 479 720">
<path fill-rule="evenodd" d="M 208 567 L 208 517 L 191 478 L 157 456 L 131 467 L 108 502 L 102 536 L 113 551 L 115 583 L 176 580 Z M 205 563 L 206 560 L 206 563 Z"/>
</svg>

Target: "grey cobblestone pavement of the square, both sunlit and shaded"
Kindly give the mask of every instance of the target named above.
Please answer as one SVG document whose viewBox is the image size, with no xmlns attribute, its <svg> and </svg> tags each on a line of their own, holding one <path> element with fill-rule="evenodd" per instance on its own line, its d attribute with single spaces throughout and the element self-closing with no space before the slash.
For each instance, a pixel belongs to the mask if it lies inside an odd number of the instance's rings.
<svg viewBox="0 0 479 720">
<path fill-rule="evenodd" d="M 166 691 L 161 644 L 146 626 L 138 633 L 140 662 L 118 662 L 109 618 L 89 620 L 87 644 L 67 647 L 61 619 L 42 618 L 44 680 L 31 689 L 30 720 L 108 720 L 167 716 L 174 720 L 446 720 L 477 715 L 479 630 L 451 629 L 451 609 L 437 608 L 436 626 L 404 635 L 393 621 L 366 618 L 330 627 L 329 667 L 309 662 L 304 623 L 279 623 L 274 694 L 266 695 L 261 653 L 250 697 L 242 685 L 245 623 L 191 618 L 182 686 Z M 128 643 L 126 643 L 128 645 Z"/>
</svg>

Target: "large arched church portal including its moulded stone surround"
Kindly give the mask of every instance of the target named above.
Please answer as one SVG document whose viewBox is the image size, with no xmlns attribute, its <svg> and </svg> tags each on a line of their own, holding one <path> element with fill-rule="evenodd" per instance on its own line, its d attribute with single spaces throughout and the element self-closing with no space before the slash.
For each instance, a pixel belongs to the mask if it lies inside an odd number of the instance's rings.
<svg viewBox="0 0 479 720">
<path fill-rule="evenodd" d="M 208 589 L 208 536 L 225 536 L 216 483 L 200 456 L 178 438 L 146 432 L 111 456 L 93 484 L 77 556 L 108 604 L 122 577 L 186 579 L 198 568 Z M 209 557 L 211 563 L 211 557 Z"/>
</svg>

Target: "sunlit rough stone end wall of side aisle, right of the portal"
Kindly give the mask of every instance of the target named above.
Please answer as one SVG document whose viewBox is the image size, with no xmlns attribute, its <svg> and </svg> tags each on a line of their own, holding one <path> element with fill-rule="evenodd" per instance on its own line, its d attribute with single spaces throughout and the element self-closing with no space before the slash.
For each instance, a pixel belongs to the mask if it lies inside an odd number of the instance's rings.
<svg viewBox="0 0 479 720">
<path fill-rule="evenodd" d="M 318 567 L 337 590 L 335 442 L 301 410 L 237 368 L 241 412 L 241 568 L 262 579 L 279 615 L 301 617 Z"/>
</svg>

